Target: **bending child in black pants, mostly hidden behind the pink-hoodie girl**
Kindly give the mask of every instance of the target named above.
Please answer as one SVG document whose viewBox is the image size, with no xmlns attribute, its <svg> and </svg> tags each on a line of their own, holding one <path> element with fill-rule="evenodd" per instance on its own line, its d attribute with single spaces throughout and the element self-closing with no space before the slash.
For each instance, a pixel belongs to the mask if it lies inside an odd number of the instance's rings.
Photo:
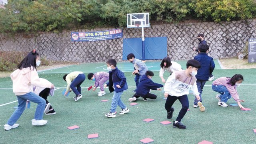
<svg viewBox="0 0 256 144">
<path fill-rule="evenodd" d="M 39 78 L 39 79 L 41 83 L 50 83 L 50 81 L 46 79 L 42 79 L 42 78 Z M 36 95 L 39 95 L 46 101 L 46 106 L 44 110 L 44 113 L 46 115 L 56 114 L 55 110 L 52 108 L 52 105 L 49 103 L 49 101 L 47 101 L 47 97 L 49 96 L 49 94 L 52 96 L 54 95 L 54 88 L 50 89 L 45 87 L 34 87 L 34 93 Z"/>
</svg>

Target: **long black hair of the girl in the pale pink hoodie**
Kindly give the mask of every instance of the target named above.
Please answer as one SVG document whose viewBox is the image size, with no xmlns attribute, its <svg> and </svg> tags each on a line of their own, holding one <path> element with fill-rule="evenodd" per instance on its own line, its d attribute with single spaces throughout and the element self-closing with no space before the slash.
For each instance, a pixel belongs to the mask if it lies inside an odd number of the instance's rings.
<svg viewBox="0 0 256 144">
<path fill-rule="evenodd" d="M 33 67 L 33 70 L 36 69 L 36 58 L 39 54 L 36 52 L 36 49 L 33 49 L 28 55 L 20 62 L 18 69 L 23 69 L 26 67 Z"/>
</svg>

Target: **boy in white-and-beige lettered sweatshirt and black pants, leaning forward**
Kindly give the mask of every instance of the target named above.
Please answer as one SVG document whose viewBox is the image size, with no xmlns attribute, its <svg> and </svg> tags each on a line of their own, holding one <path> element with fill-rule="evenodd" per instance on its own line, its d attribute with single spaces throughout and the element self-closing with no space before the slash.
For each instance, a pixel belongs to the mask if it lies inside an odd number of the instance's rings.
<svg viewBox="0 0 256 144">
<path fill-rule="evenodd" d="M 193 91 L 193 94 L 196 95 L 196 99 L 200 100 L 199 93 L 196 87 L 196 73 L 200 68 L 200 63 L 194 59 L 191 59 L 186 64 L 187 69 L 184 71 L 176 71 L 170 75 L 164 85 L 164 97 L 167 97 L 165 103 L 165 109 L 167 110 L 167 118 L 172 118 L 172 113 L 174 108 L 172 105 L 178 99 L 182 105 L 182 108 L 179 112 L 179 115 L 176 121 L 173 122 L 174 128 L 185 129 L 186 126 L 180 123 L 182 118 L 185 116 L 188 110 L 188 93 Z M 200 101 L 198 101 L 198 106 L 203 112 L 205 110 L 204 106 Z"/>
</svg>

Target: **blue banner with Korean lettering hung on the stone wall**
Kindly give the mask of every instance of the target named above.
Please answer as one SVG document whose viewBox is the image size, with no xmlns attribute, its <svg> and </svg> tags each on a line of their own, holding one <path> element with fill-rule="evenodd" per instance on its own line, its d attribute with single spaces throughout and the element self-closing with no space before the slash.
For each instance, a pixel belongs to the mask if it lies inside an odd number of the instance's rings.
<svg viewBox="0 0 256 144">
<path fill-rule="evenodd" d="M 123 37 L 123 32 L 121 29 L 99 32 L 71 32 L 71 41 L 101 41 L 121 37 Z"/>
</svg>

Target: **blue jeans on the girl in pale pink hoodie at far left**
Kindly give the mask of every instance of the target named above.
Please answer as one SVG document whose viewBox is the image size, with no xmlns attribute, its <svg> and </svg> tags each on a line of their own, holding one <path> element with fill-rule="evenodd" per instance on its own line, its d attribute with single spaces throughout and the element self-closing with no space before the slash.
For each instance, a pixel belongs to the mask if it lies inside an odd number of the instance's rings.
<svg viewBox="0 0 256 144">
<path fill-rule="evenodd" d="M 36 107 L 34 119 L 42 120 L 43 114 L 44 114 L 44 108 L 46 105 L 46 101 L 42 97 L 36 95 L 35 93 L 30 92 L 30 93 L 26 93 L 25 95 L 17 95 L 17 99 L 19 103 L 18 108 L 13 112 L 7 124 L 12 126 L 15 122 L 17 122 L 17 120 L 20 118 L 21 114 L 26 108 L 27 100 L 32 101 L 34 103 L 38 103 Z"/>
</svg>

